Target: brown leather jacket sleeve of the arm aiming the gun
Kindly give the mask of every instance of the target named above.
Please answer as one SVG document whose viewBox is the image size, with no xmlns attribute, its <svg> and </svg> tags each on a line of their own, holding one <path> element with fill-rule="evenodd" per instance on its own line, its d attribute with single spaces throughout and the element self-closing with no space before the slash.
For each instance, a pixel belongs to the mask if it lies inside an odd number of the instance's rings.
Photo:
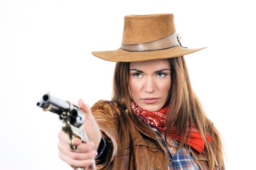
<svg viewBox="0 0 256 170">
<path fill-rule="evenodd" d="M 97 158 L 97 169 L 105 170 L 115 158 L 117 153 L 117 127 L 116 117 L 120 114 L 117 104 L 109 101 L 99 101 L 92 106 L 92 115 L 96 120 L 101 135 L 106 139 L 106 148 L 103 154 Z"/>
</svg>

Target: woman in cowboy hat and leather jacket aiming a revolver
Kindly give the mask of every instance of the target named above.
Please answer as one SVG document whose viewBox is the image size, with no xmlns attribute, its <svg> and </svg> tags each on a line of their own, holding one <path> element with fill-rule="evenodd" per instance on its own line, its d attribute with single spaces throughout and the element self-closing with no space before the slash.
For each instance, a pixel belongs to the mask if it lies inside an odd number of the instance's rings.
<svg viewBox="0 0 256 170">
<path fill-rule="evenodd" d="M 191 88 L 175 32 L 173 14 L 128 15 L 123 42 L 115 51 L 93 55 L 117 62 L 111 101 L 99 101 L 85 112 L 91 142 L 59 133 L 60 157 L 72 167 L 113 170 L 225 169 L 218 130 L 205 115 Z M 98 152 L 96 152 L 96 150 Z"/>
</svg>

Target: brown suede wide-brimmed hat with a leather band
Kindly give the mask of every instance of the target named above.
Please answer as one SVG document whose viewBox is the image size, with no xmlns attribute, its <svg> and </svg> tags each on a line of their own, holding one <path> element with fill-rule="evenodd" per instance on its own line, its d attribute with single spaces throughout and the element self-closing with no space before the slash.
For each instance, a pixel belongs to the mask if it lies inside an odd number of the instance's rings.
<svg viewBox="0 0 256 170">
<path fill-rule="evenodd" d="M 136 62 L 180 57 L 204 48 L 181 46 L 172 13 L 126 15 L 121 47 L 114 51 L 92 51 L 92 55 L 112 62 Z"/>
</svg>

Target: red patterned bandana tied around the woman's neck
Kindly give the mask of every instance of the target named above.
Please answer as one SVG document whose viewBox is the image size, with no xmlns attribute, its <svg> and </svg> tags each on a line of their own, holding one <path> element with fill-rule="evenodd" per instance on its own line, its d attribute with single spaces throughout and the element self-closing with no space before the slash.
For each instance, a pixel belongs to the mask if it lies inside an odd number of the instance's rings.
<svg viewBox="0 0 256 170">
<path fill-rule="evenodd" d="M 162 131 L 166 130 L 166 126 L 164 125 L 165 125 L 166 113 L 168 111 L 168 106 L 164 106 L 157 112 L 150 112 L 148 110 L 142 110 L 135 102 L 132 102 L 132 110 L 134 111 L 134 113 L 139 115 L 139 118 L 144 122 L 150 124 L 151 126 L 155 126 L 158 130 L 162 130 Z M 176 140 L 181 141 L 181 136 L 178 135 L 177 137 L 175 137 L 175 130 L 176 128 L 174 126 L 173 129 L 171 130 L 170 136 Z M 190 138 L 189 138 L 189 132 L 190 132 L 190 124 L 188 123 L 187 138 L 186 138 L 185 144 L 192 146 L 195 150 L 201 153 L 204 150 L 204 140 L 194 124 L 191 129 Z M 208 134 L 206 134 L 206 136 L 207 136 L 207 141 L 211 142 L 213 138 Z"/>
</svg>

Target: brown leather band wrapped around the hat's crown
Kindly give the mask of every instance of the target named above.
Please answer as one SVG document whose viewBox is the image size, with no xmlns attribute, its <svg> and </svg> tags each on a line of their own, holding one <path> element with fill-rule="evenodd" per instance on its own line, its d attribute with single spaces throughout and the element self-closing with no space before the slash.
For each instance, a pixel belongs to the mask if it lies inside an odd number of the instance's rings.
<svg viewBox="0 0 256 170">
<path fill-rule="evenodd" d="M 131 44 L 125 45 L 121 43 L 121 49 L 127 51 L 151 51 L 151 50 L 160 50 L 160 49 L 168 49 L 180 44 L 180 34 L 176 31 L 170 35 L 167 35 L 164 38 L 159 40 L 155 40 L 152 42 L 146 42 L 141 44 Z"/>
</svg>

